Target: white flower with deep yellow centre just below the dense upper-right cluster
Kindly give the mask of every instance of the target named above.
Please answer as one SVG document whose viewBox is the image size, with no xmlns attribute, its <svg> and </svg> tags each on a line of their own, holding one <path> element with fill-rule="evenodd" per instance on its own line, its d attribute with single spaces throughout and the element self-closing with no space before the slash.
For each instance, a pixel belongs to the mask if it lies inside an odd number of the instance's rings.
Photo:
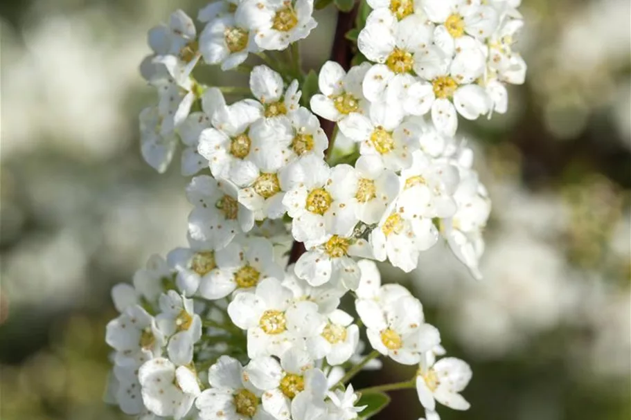
<svg viewBox="0 0 631 420">
<path fill-rule="evenodd" d="M 389 115 L 387 107 L 373 104 L 370 116 L 352 113 L 339 122 L 345 136 L 360 142 L 362 155 L 375 155 L 382 159 L 383 167 L 399 171 L 409 167 L 412 154 L 418 149 L 418 126 Z"/>
</svg>

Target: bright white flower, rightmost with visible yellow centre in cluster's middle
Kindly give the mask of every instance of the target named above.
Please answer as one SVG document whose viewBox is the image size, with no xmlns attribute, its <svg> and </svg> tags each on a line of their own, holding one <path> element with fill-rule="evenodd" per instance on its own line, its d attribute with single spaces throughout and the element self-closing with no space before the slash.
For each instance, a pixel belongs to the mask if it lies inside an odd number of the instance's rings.
<svg viewBox="0 0 631 420">
<path fill-rule="evenodd" d="M 401 171 L 402 191 L 397 199 L 407 217 L 451 217 L 456 212 L 453 195 L 458 188 L 458 169 L 447 162 L 432 161 L 420 150 L 412 154 L 411 167 Z"/>
</svg>

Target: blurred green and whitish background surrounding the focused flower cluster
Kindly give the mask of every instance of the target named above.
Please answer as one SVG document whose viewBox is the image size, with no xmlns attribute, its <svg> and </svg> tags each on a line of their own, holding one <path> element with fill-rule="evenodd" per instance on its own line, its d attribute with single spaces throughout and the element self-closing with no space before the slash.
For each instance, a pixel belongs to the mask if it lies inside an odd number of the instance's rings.
<svg viewBox="0 0 631 420">
<path fill-rule="evenodd" d="M 0 419 L 122 419 L 103 403 L 109 288 L 185 244 L 186 180 L 139 154 L 154 101 L 146 31 L 204 1 L 0 3 Z M 525 0 L 524 86 L 509 113 L 463 125 L 493 212 L 475 282 L 443 246 L 404 276 L 450 354 L 474 370 L 443 419 L 631 417 L 628 0 Z M 335 15 L 303 46 L 328 57 Z M 221 77 L 215 75 L 215 77 Z M 221 83 L 219 83 L 221 84 Z M 386 364 L 356 385 L 414 372 Z M 414 392 L 381 419 L 416 420 Z"/>
</svg>

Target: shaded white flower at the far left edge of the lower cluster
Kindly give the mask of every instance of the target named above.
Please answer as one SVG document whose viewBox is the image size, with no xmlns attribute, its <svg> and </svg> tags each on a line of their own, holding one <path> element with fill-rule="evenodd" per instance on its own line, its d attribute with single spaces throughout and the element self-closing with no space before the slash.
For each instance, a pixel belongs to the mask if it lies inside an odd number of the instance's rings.
<svg viewBox="0 0 631 420">
<path fill-rule="evenodd" d="M 105 343 L 116 350 L 118 364 L 139 356 L 147 360 L 159 357 L 166 340 L 154 318 L 134 304 L 108 322 Z"/>
</svg>

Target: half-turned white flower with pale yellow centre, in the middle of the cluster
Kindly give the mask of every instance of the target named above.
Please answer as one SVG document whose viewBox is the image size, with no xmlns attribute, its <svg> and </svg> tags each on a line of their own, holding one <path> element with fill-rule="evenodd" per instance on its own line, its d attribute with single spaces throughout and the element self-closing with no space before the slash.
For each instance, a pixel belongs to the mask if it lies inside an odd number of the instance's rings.
<svg viewBox="0 0 631 420">
<path fill-rule="evenodd" d="M 399 178 L 386 170 L 379 156 L 359 156 L 355 162 L 357 219 L 366 224 L 377 223 L 399 192 Z"/>
</svg>

